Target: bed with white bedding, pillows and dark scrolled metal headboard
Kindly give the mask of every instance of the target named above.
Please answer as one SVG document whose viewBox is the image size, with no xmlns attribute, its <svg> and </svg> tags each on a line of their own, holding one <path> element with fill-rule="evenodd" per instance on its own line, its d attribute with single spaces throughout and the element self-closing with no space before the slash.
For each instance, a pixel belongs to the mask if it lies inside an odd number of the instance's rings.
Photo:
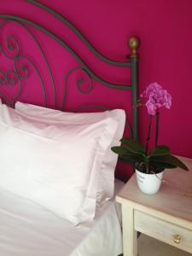
<svg viewBox="0 0 192 256">
<path fill-rule="evenodd" d="M 118 255 L 114 195 L 123 183 L 110 148 L 123 134 L 138 138 L 139 40 L 113 61 L 38 1 L 8 13 L 0 13 L 0 254 Z"/>
</svg>

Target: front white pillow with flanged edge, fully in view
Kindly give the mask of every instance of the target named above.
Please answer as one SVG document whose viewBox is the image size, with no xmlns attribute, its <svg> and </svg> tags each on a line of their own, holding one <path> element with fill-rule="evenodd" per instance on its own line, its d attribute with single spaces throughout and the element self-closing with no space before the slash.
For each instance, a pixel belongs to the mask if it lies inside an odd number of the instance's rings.
<svg viewBox="0 0 192 256">
<path fill-rule="evenodd" d="M 98 177 L 117 123 L 106 112 L 89 124 L 25 117 L 0 106 L 0 186 L 73 224 L 90 221 Z"/>
</svg>

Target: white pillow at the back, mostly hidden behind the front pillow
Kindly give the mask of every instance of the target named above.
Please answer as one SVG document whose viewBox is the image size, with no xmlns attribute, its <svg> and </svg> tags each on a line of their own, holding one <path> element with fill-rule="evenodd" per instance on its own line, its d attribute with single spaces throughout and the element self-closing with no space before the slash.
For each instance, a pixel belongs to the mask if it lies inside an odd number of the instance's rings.
<svg viewBox="0 0 192 256">
<path fill-rule="evenodd" d="M 110 116 L 116 123 L 117 129 L 113 136 L 113 140 L 108 145 L 108 149 L 102 160 L 101 176 L 99 177 L 99 185 L 97 191 L 97 203 L 102 204 L 113 198 L 114 189 L 114 170 L 117 164 L 118 155 L 114 154 L 111 147 L 119 145 L 119 140 L 123 137 L 125 128 L 125 111 L 122 109 L 115 109 L 111 111 L 105 111 L 100 113 L 67 113 L 59 110 L 38 107 L 32 104 L 26 104 L 16 102 L 15 109 L 24 114 L 25 116 L 31 116 L 34 119 L 44 120 L 57 120 L 64 122 L 72 122 L 73 124 L 88 124 L 91 121 L 98 121 L 102 119 L 106 114 Z"/>
</svg>

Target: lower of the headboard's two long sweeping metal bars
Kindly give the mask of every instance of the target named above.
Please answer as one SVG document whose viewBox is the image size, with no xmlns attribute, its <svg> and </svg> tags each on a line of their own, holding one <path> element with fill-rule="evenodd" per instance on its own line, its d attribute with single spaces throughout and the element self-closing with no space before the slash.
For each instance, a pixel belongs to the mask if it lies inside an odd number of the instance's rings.
<svg viewBox="0 0 192 256">
<path fill-rule="evenodd" d="M 3 18 L 3 19 L 9 19 L 9 20 L 19 20 L 20 22 L 24 22 L 30 26 L 34 26 L 36 27 L 38 30 L 44 32 L 45 34 L 49 35 L 50 38 L 53 38 L 55 39 L 56 42 L 58 42 L 59 44 L 61 44 L 65 49 L 67 49 L 67 51 L 73 55 L 73 57 L 79 61 L 79 63 L 81 64 L 82 67 L 84 67 L 84 69 L 90 73 L 91 77 L 93 79 L 96 79 L 96 81 L 98 81 L 99 83 L 109 87 L 109 88 L 113 88 L 113 89 L 117 89 L 117 90 L 132 90 L 131 88 L 131 85 L 122 85 L 122 84 L 112 84 L 112 83 L 109 83 L 108 81 L 104 80 L 104 79 L 101 79 L 99 76 L 96 75 L 96 73 L 94 73 L 92 70 L 90 70 L 90 67 L 88 67 L 85 62 L 79 57 L 79 55 L 77 53 L 75 53 L 73 51 L 72 48 L 70 48 L 70 46 L 62 41 L 61 38 L 58 38 L 57 36 L 55 36 L 54 33 L 52 32 L 49 32 L 49 30 L 45 29 L 43 26 L 39 26 L 37 25 L 36 23 L 30 21 L 30 20 L 26 20 L 26 19 L 23 19 L 23 18 L 20 18 L 18 16 L 15 16 L 15 15 L 0 15 L 0 18 Z"/>
</svg>

